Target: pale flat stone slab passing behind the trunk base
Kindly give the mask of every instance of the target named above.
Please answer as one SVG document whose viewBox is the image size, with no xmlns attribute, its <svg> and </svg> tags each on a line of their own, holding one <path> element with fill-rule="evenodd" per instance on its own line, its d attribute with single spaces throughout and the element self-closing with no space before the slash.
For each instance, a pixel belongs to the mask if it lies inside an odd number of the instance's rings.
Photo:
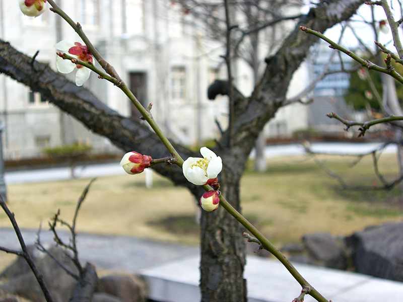
<svg viewBox="0 0 403 302">
<path fill-rule="evenodd" d="M 310 265 L 295 265 L 327 299 L 337 302 L 401 301 L 403 283 L 363 274 Z M 141 271 L 149 298 L 164 302 L 200 300 L 199 257 L 189 257 Z M 301 287 L 277 260 L 247 256 L 245 277 L 249 302 L 284 302 L 296 298 Z M 311 296 L 305 302 L 315 301 Z"/>
</svg>

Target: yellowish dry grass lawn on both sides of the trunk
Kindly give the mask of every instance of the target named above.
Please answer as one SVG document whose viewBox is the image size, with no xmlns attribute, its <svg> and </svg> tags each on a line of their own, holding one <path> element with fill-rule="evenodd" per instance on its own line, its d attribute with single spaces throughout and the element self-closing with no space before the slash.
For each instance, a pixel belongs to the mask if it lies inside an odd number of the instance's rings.
<svg viewBox="0 0 403 302">
<path fill-rule="evenodd" d="M 344 158 L 331 157 L 326 161 L 350 184 L 374 184 L 368 160 L 364 159 L 354 170 L 345 164 Z M 310 232 L 348 235 L 368 225 L 403 218 L 395 191 L 334 190 L 337 181 L 311 160 L 293 157 L 268 162 L 265 173 L 248 170 L 242 178 L 242 208 L 246 217 L 256 222 L 261 232 L 277 245 L 298 241 Z M 388 178 L 395 175 L 394 157 L 386 156 L 381 169 Z M 80 179 L 10 185 L 9 207 L 21 228 L 38 228 L 40 221 L 45 225 L 57 209 L 64 220 L 71 221 L 76 202 L 88 182 Z M 192 217 L 195 209 L 194 199 L 186 189 L 174 187 L 157 175 L 152 189 L 145 188 L 144 175 L 102 177 L 94 182 L 83 204 L 78 230 L 197 244 L 197 231 L 191 232 L 186 225 L 192 223 L 191 219 L 179 225 L 172 218 Z M 164 219 L 173 221 L 170 228 L 150 223 Z M 0 226 L 10 226 L 4 213 L 0 213 Z"/>
</svg>

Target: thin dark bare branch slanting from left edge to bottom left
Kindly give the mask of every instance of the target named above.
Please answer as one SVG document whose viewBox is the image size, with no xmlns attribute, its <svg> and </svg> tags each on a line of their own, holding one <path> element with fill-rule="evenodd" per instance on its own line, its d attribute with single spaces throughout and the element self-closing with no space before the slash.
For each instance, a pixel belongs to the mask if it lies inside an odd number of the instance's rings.
<svg viewBox="0 0 403 302">
<path fill-rule="evenodd" d="M 14 254 L 24 257 L 25 261 L 28 263 L 29 267 L 31 268 L 32 272 L 35 275 L 36 280 L 39 283 L 39 286 L 40 286 L 40 288 L 41 288 L 41 290 L 42 290 L 42 292 L 43 292 L 43 294 L 45 296 L 46 302 L 53 302 L 53 299 L 52 299 L 52 297 L 50 295 L 50 292 L 46 287 L 45 281 L 43 280 L 43 276 L 38 271 L 38 269 L 36 268 L 36 265 L 35 265 L 34 261 L 32 260 L 31 255 L 28 252 L 27 246 L 25 245 L 25 242 L 24 242 L 24 238 L 22 237 L 20 228 L 19 228 L 19 226 L 17 224 L 17 221 L 16 221 L 16 219 L 14 217 L 14 213 L 12 213 L 10 211 L 10 209 L 6 205 L 6 202 L 4 201 L 4 199 L 3 199 L 3 197 L 1 195 L 0 195 L 0 206 L 3 208 L 3 210 L 6 212 L 7 216 L 9 217 L 9 219 L 11 221 L 11 224 L 13 225 L 14 231 L 16 232 L 18 241 L 20 242 L 22 252 L 17 252 L 17 253 L 14 253 Z M 5 251 L 7 253 L 13 253 L 14 252 L 12 250 L 5 249 L 5 248 L 2 248 L 1 250 Z"/>
</svg>

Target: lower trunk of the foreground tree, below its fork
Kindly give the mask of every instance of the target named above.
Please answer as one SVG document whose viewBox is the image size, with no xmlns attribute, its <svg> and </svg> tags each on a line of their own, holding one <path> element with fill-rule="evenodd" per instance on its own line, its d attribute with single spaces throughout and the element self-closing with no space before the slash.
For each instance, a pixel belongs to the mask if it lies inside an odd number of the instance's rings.
<svg viewBox="0 0 403 302">
<path fill-rule="evenodd" d="M 239 177 L 225 173 L 220 180 L 221 192 L 239 211 Z M 200 229 L 201 301 L 246 302 L 243 226 L 219 207 L 214 212 L 203 211 Z"/>
</svg>

